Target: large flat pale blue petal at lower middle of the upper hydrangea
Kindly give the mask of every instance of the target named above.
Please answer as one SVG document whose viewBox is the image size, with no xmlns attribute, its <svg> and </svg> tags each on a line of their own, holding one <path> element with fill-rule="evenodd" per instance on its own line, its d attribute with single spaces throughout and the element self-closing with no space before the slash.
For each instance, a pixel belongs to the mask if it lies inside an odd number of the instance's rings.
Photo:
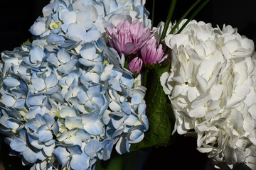
<svg viewBox="0 0 256 170">
<path fill-rule="evenodd" d="M 78 23 L 71 23 L 68 26 L 68 36 L 70 38 L 79 38 L 80 40 L 85 40 L 86 30 L 85 27 L 79 25 Z"/>
</svg>

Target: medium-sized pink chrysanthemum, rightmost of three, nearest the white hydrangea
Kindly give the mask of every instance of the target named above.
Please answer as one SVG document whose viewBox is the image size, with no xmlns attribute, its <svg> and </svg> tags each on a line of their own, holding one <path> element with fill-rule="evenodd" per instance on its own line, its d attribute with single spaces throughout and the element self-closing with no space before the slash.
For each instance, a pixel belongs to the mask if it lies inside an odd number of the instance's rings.
<svg viewBox="0 0 256 170">
<path fill-rule="evenodd" d="M 150 39 L 146 42 L 146 44 L 142 47 L 141 55 L 144 64 L 156 64 L 156 62 L 161 63 L 167 57 L 163 57 L 163 46 L 161 44 L 156 45 L 155 39 Z"/>
</svg>

